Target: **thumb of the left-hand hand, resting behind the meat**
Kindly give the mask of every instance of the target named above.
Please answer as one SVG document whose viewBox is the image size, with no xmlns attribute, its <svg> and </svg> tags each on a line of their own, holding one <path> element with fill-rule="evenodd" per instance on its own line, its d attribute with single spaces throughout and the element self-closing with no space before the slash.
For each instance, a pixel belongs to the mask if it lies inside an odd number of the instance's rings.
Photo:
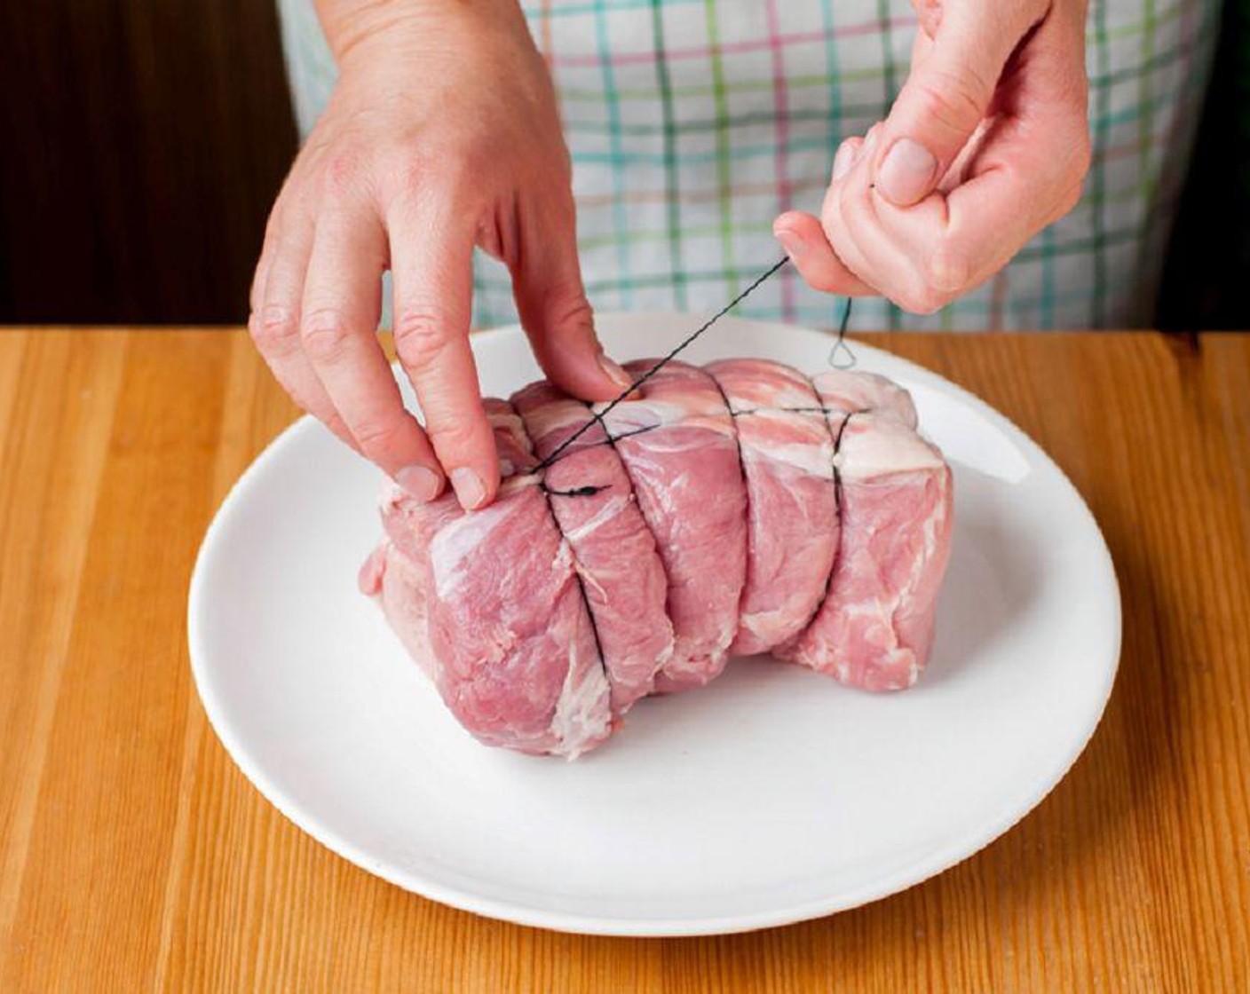
<svg viewBox="0 0 1250 994">
<path fill-rule="evenodd" d="M 595 335 L 571 194 L 561 189 L 555 203 L 519 211 L 516 225 L 511 243 L 519 251 L 506 261 L 534 356 L 551 381 L 574 396 L 611 400 L 630 385 L 630 376 L 604 354 Z"/>
</svg>

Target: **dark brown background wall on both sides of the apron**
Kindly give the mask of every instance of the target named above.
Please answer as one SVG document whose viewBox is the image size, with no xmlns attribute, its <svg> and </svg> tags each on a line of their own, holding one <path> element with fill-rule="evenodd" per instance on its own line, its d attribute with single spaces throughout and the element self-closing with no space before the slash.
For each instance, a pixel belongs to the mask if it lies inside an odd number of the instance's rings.
<svg viewBox="0 0 1250 994">
<path fill-rule="evenodd" d="M 1250 328 L 1248 10 L 1228 0 L 1165 328 Z M 244 320 L 295 145 L 272 0 L 0 0 L 0 324 Z"/>
</svg>

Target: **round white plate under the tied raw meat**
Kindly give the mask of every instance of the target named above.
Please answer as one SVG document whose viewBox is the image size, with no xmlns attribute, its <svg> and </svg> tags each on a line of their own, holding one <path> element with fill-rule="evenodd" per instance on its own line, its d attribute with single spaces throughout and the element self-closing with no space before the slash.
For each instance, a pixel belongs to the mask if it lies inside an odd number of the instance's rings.
<svg viewBox="0 0 1250 994">
<path fill-rule="evenodd" d="M 600 319 L 619 358 L 690 315 Z M 475 336 L 486 393 L 536 378 L 516 329 Z M 696 361 L 809 371 L 830 336 L 722 320 Z M 315 421 L 235 485 L 200 550 L 189 629 L 221 741 L 288 818 L 399 886 L 569 931 L 778 925 L 902 890 L 1009 829 L 1066 773 L 1115 676 L 1120 599 L 1071 484 L 980 400 L 855 345 L 908 386 L 955 466 L 955 549 L 928 673 L 871 695 L 769 659 L 645 700 L 575 763 L 474 741 L 356 591 L 376 471 Z"/>
</svg>

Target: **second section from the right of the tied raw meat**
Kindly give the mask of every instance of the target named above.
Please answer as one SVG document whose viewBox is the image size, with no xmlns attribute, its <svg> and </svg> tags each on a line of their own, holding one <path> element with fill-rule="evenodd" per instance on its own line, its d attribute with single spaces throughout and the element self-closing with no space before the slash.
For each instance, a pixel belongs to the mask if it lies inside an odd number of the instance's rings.
<svg viewBox="0 0 1250 994">
<path fill-rule="evenodd" d="M 838 551 L 834 440 L 811 381 L 764 359 L 706 370 L 738 426 L 746 476 L 746 585 L 731 655 L 792 639 L 825 595 Z"/>
</svg>

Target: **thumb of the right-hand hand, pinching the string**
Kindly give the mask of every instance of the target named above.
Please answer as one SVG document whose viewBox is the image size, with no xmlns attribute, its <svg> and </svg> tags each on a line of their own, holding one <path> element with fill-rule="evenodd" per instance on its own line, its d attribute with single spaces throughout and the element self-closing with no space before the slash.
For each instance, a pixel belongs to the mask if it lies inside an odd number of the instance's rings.
<svg viewBox="0 0 1250 994">
<path fill-rule="evenodd" d="M 926 198 L 968 144 L 1031 28 L 1022 6 L 1034 5 L 948 5 L 881 129 L 874 181 L 886 200 L 908 206 Z"/>
</svg>

